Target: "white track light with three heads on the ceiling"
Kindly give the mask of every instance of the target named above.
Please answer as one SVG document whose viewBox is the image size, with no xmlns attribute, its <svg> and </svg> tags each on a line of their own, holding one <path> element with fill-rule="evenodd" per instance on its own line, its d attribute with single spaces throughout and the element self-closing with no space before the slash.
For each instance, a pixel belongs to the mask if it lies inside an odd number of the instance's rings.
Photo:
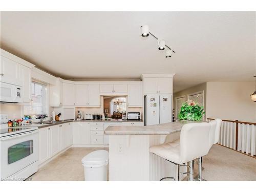
<svg viewBox="0 0 256 192">
<path fill-rule="evenodd" d="M 165 41 L 164 40 L 160 40 L 159 38 L 157 38 L 155 35 L 153 35 L 151 32 L 150 32 L 150 28 L 147 26 L 147 25 L 143 25 L 143 26 L 140 26 L 141 27 L 141 30 L 142 30 L 142 33 L 141 33 L 141 36 L 142 37 L 147 37 L 149 36 L 150 34 L 155 37 L 157 39 L 157 46 L 158 46 L 158 49 L 159 50 L 164 50 L 165 47 L 168 48 L 165 52 L 165 57 L 168 58 L 168 57 L 172 57 L 172 53 L 175 53 L 174 50 L 170 49 L 166 44 L 165 44 Z"/>
</svg>

